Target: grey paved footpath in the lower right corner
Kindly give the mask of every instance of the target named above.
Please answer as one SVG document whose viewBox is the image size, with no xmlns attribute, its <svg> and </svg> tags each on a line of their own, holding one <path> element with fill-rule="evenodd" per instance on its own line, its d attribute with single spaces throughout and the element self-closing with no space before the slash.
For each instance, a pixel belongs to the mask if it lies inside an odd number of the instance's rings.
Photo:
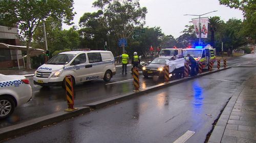
<svg viewBox="0 0 256 143">
<path fill-rule="evenodd" d="M 256 73 L 229 100 L 208 140 L 214 142 L 256 142 Z"/>
</svg>

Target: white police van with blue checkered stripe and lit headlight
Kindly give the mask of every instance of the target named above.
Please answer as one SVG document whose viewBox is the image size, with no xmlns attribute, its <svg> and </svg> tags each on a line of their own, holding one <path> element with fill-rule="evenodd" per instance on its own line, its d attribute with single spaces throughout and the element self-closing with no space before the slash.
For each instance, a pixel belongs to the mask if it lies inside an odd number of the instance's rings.
<svg viewBox="0 0 256 143">
<path fill-rule="evenodd" d="M 34 84 L 42 87 L 65 86 L 65 76 L 71 75 L 73 84 L 103 78 L 110 81 L 116 74 L 111 51 L 61 52 L 40 66 L 34 75 Z"/>
</svg>

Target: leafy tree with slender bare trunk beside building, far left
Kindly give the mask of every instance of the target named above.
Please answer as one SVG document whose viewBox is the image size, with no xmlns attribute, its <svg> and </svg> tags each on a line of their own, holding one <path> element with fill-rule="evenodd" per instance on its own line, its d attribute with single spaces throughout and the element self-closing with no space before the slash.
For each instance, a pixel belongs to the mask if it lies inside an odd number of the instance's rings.
<svg viewBox="0 0 256 143">
<path fill-rule="evenodd" d="M 1 17 L 10 23 L 17 23 L 19 36 L 26 40 L 27 61 L 30 61 L 29 47 L 31 45 L 32 36 L 40 21 L 52 17 L 71 24 L 73 20 L 73 0 L 13 0 L 0 1 Z M 29 69 L 29 62 L 26 63 Z"/>
</svg>

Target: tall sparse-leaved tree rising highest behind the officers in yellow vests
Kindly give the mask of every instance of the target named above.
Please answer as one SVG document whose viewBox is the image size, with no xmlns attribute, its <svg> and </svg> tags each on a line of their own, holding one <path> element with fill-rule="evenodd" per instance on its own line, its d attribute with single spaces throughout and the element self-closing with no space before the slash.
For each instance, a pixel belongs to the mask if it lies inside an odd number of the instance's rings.
<svg viewBox="0 0 256 143">
<path fill-rule="evenodd" d="M 145 24 L 147 9 L 140 7 L 139 0 L 97 0 L 93 6 L 103 11 L 106 26 L 116 41 L 130 37 L 135 26 L 142 27 Z"/>
</svg>

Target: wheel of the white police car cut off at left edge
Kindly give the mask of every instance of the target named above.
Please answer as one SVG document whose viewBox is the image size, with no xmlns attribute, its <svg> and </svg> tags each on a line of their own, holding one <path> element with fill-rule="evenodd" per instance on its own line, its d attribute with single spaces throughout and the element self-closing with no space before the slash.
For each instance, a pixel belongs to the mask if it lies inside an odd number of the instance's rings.
<svg viewBox="0 0 256 143">
<path fill-rule="evenodd" d="M 14 100 L 8 96 L 0 97 L 0 119 L 5 119 L 12 114 L 15 108 Z"/>
</svg>

